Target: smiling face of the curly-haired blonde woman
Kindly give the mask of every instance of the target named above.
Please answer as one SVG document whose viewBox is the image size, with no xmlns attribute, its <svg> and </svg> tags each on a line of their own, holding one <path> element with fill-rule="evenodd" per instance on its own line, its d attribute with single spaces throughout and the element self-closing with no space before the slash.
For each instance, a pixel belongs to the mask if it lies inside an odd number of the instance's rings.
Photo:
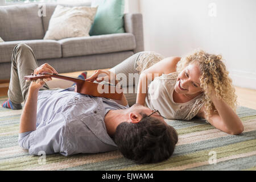
<svg viewBox="0 0 256 182">
<path fill-rule="evenodd" d="M 200 88 L 201 72 L 197 64 L 189 64 L 177 76 L 175 91 L 179 94 L 198 94 L 203 92 Z"/>
</svg>

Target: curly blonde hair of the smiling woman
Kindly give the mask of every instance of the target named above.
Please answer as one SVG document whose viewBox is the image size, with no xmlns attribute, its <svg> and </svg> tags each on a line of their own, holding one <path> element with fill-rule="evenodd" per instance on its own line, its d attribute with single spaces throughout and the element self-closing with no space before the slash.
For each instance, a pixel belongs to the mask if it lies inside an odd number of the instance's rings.
<svg viewBox="0 0 256 182">
<path fill-rule="evenodd" d="M 222 61 L 222 56 L 196 50 L 194 53 L 181 58 L 177 64 L 177 72 L 180 73 L 188 64 L 192 63 L 197 63 L 201 71 L 200 87 L 204 90 L 203 101 L 206 118 L 209 117 L 210 110 L 217 111 L 209 98 L 210 88 L 214 88 L 217 97 L 222 98 L 236 113 L 237 96 L 232 85 L 232 79 Z"/>
</svg>

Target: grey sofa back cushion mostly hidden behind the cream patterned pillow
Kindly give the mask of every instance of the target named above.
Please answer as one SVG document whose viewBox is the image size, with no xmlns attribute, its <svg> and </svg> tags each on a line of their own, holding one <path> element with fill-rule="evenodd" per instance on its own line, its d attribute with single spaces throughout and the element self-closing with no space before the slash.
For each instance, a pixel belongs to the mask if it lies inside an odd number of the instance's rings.
<svg viewBox="0 0 256 182">
<path fill-rule="evenodd" d="M 44 5 L 44 4 L 43 4 Z M 44 34 L 46 34 L 46 31 L 48 30 L 49 26 L 49 20 L 51 19 L 51 16 L 56 8 L 57 5 L 61 6 L 68 6 L 68 7 L 74 7 L 74 6 L 90 6 L 90 2 L 85 3 L 72 3 L 70 5 L 65 4 L 57 4 L 57 3 L 46 3 L 45 7 L 42 6 L 42 10 L 46 11 L 45 16 L 42 16 L 43 19 L 43 27 L 44 27 Z"/>
</svg>

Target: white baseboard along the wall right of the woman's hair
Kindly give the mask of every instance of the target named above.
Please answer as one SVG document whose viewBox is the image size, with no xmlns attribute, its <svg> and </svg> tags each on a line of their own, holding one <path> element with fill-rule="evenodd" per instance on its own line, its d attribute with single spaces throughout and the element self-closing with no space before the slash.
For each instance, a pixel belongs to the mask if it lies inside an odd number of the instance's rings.
<svg viewBox="0 0 256 182">
<path fill-rule="evenodd" d="M 254 72 L 245 72 L 232 69 L 229 71 L 229 76 L 232 78 L 234 86 L 247 89 L 256 89 L 256 73 Z"/>
</svg>

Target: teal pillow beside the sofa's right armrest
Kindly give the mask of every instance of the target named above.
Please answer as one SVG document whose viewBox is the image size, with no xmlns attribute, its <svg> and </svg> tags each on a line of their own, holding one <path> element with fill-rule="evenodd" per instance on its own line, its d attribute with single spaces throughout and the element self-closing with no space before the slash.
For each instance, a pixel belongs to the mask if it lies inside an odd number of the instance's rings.
<svg viewBox="0 0 256 182">
<path fill-rule="evenodd" d="M 123 33 L 125 0 L 94 0 L 91 7 L 98 6 L 89 35 Z"/>
</svg>

